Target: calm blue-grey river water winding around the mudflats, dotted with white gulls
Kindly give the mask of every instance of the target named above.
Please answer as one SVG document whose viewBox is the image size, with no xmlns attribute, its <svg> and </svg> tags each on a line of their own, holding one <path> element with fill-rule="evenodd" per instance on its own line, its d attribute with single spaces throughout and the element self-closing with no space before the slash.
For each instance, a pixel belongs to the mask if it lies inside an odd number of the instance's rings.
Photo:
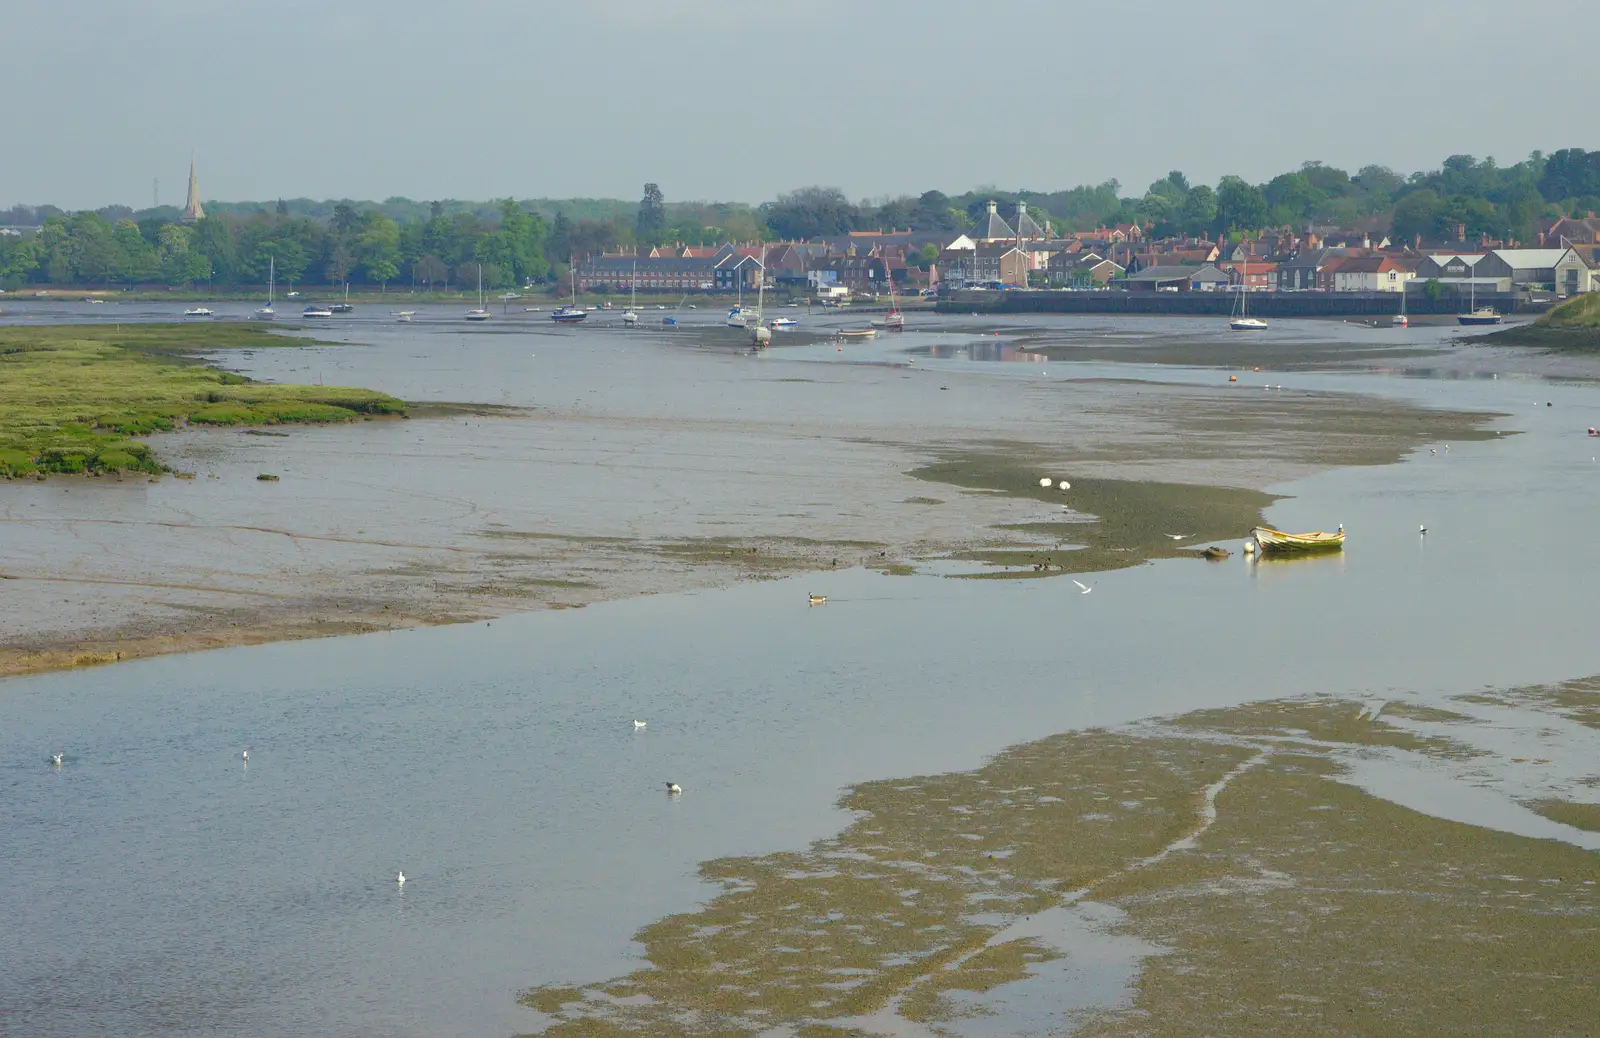
<svg viewBox="0 0 1600 1038">
<path fill-rule="evenodd" d="M 715 419 L 770 406 L 765 382 L 694 392 L 696 373 L 826 379 L 829 365 L 898 365 L 902 349 L 968 334 L 946 326 L 752 360 L 658 334 L 374 320 L 350 331 L 371 349 L 258 352 L 242 366 L 536 408 L 595 392 Z M 986 387 L 1218 381 L 1198 368 L 914 365 Z M 32 1035 L 510 1033 L 536 1022 L 518 990 L 630 969 L 638 926 L 707 896 L 698 862 L 837 830 L 851 782 L 1286 694 L 1443 702 L 1600 673 L 1600 451 L 1582 435 L 1600 392 L 1274 376 L 1291 379 L 1504 411 L 1499 425 L 1523 435 L 1274 488 L 1291 494 L 1275 523 L 1350 533 L 1342 557 L 1298 565 L 1165 561 L 1099 574 L 1093 595 L 854 569 L 3 681 L 0 1019 Z M 842 392 L 870 406 L 870 385 Z M 805 605 L 813 589 L 827 606 Z M 58 749 L 59 769 L 46 761 Z M 664 795 L 667 779 L 682 798 Z M 1376 766 L 1365 779 L 1379 793 L 1394 784 Z M 1413 806 L 1493 825 L 1475 788 L 1432 782 Z M 1126 971 L 1090 980 L 1115 1001 Z"/>
</svg>

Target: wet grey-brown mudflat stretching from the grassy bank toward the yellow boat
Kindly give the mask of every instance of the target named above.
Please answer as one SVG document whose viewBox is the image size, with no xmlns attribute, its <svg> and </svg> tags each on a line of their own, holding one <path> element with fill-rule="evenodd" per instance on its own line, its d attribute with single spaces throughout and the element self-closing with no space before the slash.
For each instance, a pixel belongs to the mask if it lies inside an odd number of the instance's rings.
<svg viewBox="0 0 1600 1038">
<path fill-rule="evenodd" d="M 526 387 L 438 333 L 368 369 L 362 344 L 222 344 L 210 361 L 266 389 L 376 381 L 416 417 L 190 424 L 141 445 L 194 478 L 10 483 L 0 675 L 930 558 L 979 563 L 968 576 L 1120 568 L 1242 537 L 1272 483 L 1490 435 L 1485 414 L 1349 393 L 1013 385 L 704 337 L 635 336 L 619 360 L 528 336 Z M 424 398 L 442 366 L 480 400 Z"/>
</svg>

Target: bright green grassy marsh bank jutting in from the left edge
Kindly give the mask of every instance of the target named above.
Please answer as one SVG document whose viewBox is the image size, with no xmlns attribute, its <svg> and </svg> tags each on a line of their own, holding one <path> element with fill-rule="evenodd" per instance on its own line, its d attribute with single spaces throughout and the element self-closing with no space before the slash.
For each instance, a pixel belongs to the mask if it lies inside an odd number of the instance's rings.
<svg viewBox="0 0 1600 1038">
<path fill-rule="evenodd" d="M 0 329 L 0 477 L 162 472 L 139 437 L 186 424 L 275 425 L 402 414 L 366 389 L 269 385 L 195 353 L 294 342 L 250 326 Z"/>
</svg>

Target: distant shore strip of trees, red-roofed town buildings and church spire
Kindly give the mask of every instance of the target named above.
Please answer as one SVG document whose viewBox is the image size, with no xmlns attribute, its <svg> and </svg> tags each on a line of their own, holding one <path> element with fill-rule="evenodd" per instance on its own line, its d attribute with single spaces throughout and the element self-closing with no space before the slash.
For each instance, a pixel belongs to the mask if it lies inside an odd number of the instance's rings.
<svg viewBox="0 0 1600 1038">
<path fill-rule="evenodd" d="M 758 286 L 822 301 L 1053 293 L 1395 293 L 1565 297 L 1600 288 L 1600 152 L 1514 166 L 1456 155 L 1403 178 L 1304 163 L 1214 189 L 1170 173 L 1139 198 L 925 192 L 878 205 L 800 189 L 762 206 L 390 198 L 179 210 L 0 211 L 8 293 L 366 286 L 688 296 Z M 1109 218 L 1109 219 L 1098 219 Z"/>
</svg>

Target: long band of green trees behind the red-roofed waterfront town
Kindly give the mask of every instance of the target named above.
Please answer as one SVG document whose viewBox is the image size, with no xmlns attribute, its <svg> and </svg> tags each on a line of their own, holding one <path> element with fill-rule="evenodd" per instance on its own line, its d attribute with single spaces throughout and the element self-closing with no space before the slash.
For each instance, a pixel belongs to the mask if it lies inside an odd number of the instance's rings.
<svg viewBox="0 0 1600 1038">
<path fill-rule="evenodd" d="M 1501 166 L 1451 155 L 1438 170 L 1402 176 L 1386 166 L 1354 174 L 1301 163 L 1264 184 L 1224 176 L 1190 184 L 1171 171 L 1142 195 L 1117 181 L 1059 192 L 978 189 L 851 202 L 832 187 L 802 187 L 757 208 L 742 203 L 667 203 L 646 184 L 638 203 L 504 198 L 494 203 L 389 198 L 382 203 L 307 200 L 210 203 L 194 224 L 171 206 L 109 206 L 66 213 L 53 206 L 0 211 L 22 234 L 0 235 L 0 288 L 24 285 L 285 285 L 402 281 L 421 289 L 486 288 L 558 280 L 570 258 L 662 243 L 718 245 L 811 240 L 850 230 L 910 229 L 954 235 L 989 200 L 1014 219 L 1026 202 L 1058 232 L 1139 222 L 1155 237 L 1227 235 L 1306 224 L 1389 227 L 1397 240 L 1438 240 L 1458 229 L 1530 242 L 1541 219 L 1600 211 L 1600 150 L 1563 149 Z"/>
</svg>

